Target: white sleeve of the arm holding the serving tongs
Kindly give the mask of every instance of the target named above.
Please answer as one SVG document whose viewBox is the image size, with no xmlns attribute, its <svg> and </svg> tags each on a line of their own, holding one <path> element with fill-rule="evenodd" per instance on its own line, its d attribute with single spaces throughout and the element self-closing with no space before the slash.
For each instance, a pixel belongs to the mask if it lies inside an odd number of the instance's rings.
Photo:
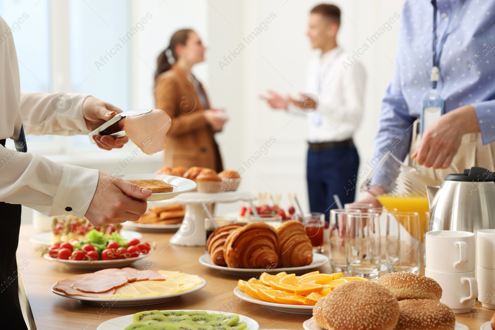
<svg viewBox="0 0 495 330">
<path fill-rule="evenodd" d="M 21 92 L 19 107 L 26 135 L 89 134 L 83 117 L 86 94 Z"/>
</svg>

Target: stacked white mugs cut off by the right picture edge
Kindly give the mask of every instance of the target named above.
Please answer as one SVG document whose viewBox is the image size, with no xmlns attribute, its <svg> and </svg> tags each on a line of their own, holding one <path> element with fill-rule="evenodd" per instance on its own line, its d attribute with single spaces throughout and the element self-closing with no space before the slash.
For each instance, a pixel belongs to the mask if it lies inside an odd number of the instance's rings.
<svg viewBox="0 0 495 330">
<path fill-rule="evenodd" d="M 495 309 L 495 229 L 478 231 L 478 301 L 483 307 Z"/>
</svg>

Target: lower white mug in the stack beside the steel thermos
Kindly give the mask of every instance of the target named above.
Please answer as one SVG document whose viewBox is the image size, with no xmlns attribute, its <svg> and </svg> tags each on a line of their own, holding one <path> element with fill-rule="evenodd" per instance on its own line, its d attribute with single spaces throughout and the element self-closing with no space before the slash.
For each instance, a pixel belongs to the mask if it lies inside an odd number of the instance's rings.
<svg viewBox="0 0 495 330">
<path fill-rule="evenodd" d="M 442 287 L 440 302 L 446 304 L 454 314 L 469 312 L 478 297 L 476 272 L 446 273 L 425 269 L 425 276 L 434 279 Z"/>
</svg>

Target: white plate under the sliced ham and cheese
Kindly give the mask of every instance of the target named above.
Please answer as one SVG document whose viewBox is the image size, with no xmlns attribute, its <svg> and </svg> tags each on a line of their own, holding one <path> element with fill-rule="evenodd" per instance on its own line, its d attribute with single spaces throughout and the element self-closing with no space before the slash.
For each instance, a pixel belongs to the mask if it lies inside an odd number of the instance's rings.
<svg viewBox="0 0 495 330">
<path fill-rule="evenodd" d="M 63 292 L 55 290 L 53 287 L 57 284 L 54 283 L 51 285 L 51 292 L 65 298 L 77 299 L 82 302 L 85 302 L 90 305 L 97 306 L 111 306 L 111 307 L 131 307 L 131 306 L 146 306 L 146 305 L 154 305 L 161 304 L 164 302 L 172 301 L 180 296 L 183 296 L 188 293 L 192 293 L 202 289 L 206 285 L 206 280 L 203 278 L 199 278 L 201 280 L 201 284 L 198 286 L 183 292 L 171 293 L 171 294 L 162 294 L 158 296 L 149 296 L 149 297 L 133 297 L 133 298 L 94 298 L 94 297 L 82 297 L 82 296 L 71 296 L 65 294 Z M 131 322 L 126 325 L 132 324 L 132 315 Z M 99 329 L 99 328 L 98 328 Z M 106 328 L 104 328 L 106 329 Z M 123 329 L 123 328 L 109 328 L 109 329 Z"/>
</svg>

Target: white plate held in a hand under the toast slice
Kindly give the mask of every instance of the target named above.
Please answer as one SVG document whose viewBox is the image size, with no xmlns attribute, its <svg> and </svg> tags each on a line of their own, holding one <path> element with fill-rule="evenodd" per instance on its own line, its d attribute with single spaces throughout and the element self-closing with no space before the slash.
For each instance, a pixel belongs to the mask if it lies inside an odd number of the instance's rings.
<svg viewBox="0 0 495 330">
<path fill-rule="evenodd" d="M 176 177 L 173 175 L 161 175 L 161 174 L 125 174 L 119 175 L 119 178 L 123 180 L 161 180 L 167 185 L 172 186 L 173 190 L 171 192 L 159 192 L 152 193 L 148 198 L 144 198 L 148 202 L 165 200 L 174 198 L 181 193 L 188 192 L 196 189 L 196 182 L 182 177 Z"/>
</svg>

